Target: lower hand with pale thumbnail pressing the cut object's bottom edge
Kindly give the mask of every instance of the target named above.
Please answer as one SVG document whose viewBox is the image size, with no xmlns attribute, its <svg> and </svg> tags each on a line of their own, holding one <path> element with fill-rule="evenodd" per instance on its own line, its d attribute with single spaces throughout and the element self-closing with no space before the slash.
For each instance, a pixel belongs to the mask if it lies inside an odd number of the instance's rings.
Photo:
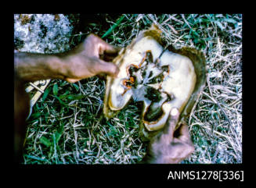
<svg viewBox="0 0 256 188">
<path fill-rule="evenodd" d="M 143 163 L 179 163 L 193 153 L 194 147 L 190 139 L 188 126 L 182 124 L 175 130 L 178 117 L 178 109 L 172 108 L 163 132 L 150 140 L 148 152 L 142 160 Z"/>
</svg>

